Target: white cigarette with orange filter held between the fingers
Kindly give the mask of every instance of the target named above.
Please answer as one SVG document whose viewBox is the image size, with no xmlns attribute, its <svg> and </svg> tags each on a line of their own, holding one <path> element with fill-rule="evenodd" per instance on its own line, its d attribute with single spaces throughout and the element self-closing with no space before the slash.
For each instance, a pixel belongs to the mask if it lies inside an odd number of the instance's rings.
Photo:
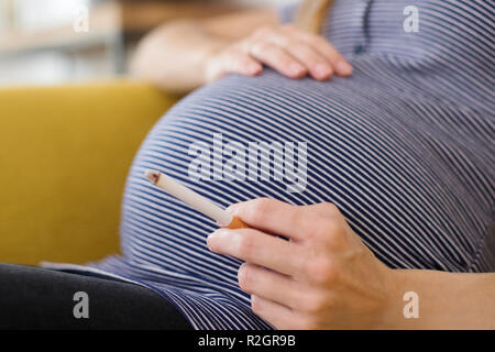
<svg viewBox="0 0 495 352">
<path fill-rule="evenodd" d="M 220 226 L 229 229 L 249 228 L 241 219 L 232 216 L 227 210 L 212 204 L 205 197 L 198 195 L 191 189 L 183 186 L 170 176 L 160 172 L 147 169 L 144 176 L 155 186 L 165 190 L 167 194 L 180 199 L 188 206 L 195 208 L 199 212 L 206 215 L 208 218 L 216 220 Z"/>
</svg>

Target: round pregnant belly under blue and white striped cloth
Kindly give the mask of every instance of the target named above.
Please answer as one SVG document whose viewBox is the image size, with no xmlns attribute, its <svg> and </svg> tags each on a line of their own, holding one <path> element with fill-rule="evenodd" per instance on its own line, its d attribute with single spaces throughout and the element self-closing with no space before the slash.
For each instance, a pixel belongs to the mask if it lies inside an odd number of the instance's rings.
<svg viewBox="0 0 495 352">
<path fill-rule="evenodd" d="M 387 265 L 466 270 L 486 219 L 460 200 L 465 185 L 448 175 L 457 170 L 437 151 L 442 141 L 415 129 L 416 116 L 397 110 L 399 101 L 389 105 L 385 92 L 364 84 L 266 72 L 255 79 L 229 76 L 185 98 L 150 132 L 133 163 L 124 254 L 237 287 L 240 262 L 206 248 L 216 224 L 153 188 L 142 174 L 155 168 L 221 206 L 256 197 L 333 202 Z"/>
</svg>

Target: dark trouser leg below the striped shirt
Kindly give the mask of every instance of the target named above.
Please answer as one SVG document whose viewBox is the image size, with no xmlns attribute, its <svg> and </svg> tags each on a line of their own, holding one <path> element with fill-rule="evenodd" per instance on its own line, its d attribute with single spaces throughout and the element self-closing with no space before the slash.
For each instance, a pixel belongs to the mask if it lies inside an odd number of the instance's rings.
<svg viewBox="0 0 495 352">
<path fill-rule="evenodd" d="M 191 327 L 174 306 L 146 287 L 0 264 L 0 329 L 177 330 Z"/>
</svg>

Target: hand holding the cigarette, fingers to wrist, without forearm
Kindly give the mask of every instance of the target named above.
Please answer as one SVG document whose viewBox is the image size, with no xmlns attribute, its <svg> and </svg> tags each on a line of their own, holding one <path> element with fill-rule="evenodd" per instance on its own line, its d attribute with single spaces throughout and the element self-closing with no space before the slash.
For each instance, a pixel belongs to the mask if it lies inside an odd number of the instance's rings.
<svg viewBox="0 0 495 352">
<path fill-rule="evenodd" d="M 252 295 L 256 315 L 278 329 L 383 326 L 395 289 L 393 271 L 362 243 L 336 206 L 256 199 L 231 211 L 253 229 L 219 229 L 208 246 L 246 262 L 239 284 Z"/>
</svg>

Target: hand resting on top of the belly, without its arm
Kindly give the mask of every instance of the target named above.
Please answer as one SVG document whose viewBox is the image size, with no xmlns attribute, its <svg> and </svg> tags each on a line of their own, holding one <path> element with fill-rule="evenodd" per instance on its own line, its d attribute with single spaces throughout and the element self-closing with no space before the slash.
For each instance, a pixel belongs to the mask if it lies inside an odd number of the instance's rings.
<svg viewBox="0 0 495 352">
<path fill-rule="evenodd" d="M 282 25 L 261 28 L 246 38 L 211 53 L 206 80 L 213 81 L 227 74 L 256 76 L 263 65 L 290 78 L 309 75 L 328 80 L 334 74 L 352 74 L 352 66 L 327 40 L 293 25 Z"/>
</svg>

